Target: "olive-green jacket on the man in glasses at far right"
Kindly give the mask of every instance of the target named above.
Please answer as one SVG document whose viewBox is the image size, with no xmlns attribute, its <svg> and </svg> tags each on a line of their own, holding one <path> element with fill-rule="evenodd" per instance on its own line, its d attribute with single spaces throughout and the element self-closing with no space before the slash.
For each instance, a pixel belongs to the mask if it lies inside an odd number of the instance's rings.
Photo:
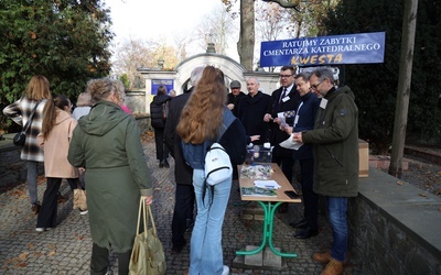
<svg viewBox="0 0 441 275">
<path fill-rule="evenodd" d="M 302 139 L 313 144 L 314 191 L 331 197 L 356 197 L 358 108 L 347 86 L 326 94 L 315 116 L 314 130 L 303 132 Z"/>
</svg>

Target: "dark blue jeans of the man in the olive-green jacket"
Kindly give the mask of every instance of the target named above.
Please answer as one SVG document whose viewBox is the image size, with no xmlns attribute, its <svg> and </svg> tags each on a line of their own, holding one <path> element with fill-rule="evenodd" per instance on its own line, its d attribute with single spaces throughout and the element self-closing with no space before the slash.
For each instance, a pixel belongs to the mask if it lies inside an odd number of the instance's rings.
<svg viewBox="0 0 441 275">
<path fill-rule="evenodd" d="M 347 251 L 347 198 L 326 197 L 327 215 L 332 226 L 332 251 L 331 256 L 343 262 Z"/>
</svg>

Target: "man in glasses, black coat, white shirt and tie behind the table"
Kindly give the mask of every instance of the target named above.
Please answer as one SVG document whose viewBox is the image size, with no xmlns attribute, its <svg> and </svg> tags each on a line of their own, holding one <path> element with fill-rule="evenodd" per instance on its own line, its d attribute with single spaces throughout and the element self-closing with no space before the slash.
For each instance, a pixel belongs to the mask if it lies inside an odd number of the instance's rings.
<svg viewBox="0 0 441 275">
<path fill-rule="evenodd" d="M 283 66 L 280 69 L 281 87 L 271 95 L 271 100 L 263 117 L 265 122 L 269 123 L 268 141 L 273 145 L 272 162 L 277 163 L 284 176 L 292 184 L 292 168 L 294 161 L 292 158 L 292 150 L 283 148 L 279 144 L 286 141 L 290 135 L 283 131 L 287 124 L 292 125 L 295 117 L 295 110 L 300 102 L 300 95 L 294 85 L 295 69 L 292 66 Z M 279 212 L 287 212 L 288 204 L 279 207 Z"/>
</svg>

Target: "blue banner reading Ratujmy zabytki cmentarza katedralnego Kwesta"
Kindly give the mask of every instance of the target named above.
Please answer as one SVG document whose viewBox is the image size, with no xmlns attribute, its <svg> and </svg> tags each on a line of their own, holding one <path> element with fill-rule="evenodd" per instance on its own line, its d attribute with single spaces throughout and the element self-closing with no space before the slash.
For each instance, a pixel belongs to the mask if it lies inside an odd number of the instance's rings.
<svg viewBox="0 0 441 275">
<path fill-rule="evenodd" d="M 262 42 L 260 67 L 383 63 L 385 32 Z"/>
</svg>

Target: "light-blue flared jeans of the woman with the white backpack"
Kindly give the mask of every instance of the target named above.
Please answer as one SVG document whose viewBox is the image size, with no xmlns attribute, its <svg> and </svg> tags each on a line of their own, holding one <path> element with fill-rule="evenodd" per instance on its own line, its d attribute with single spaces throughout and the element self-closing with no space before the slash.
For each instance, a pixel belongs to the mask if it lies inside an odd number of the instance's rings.
<svg viewBox="0 0 441 275">
<path fill-rule="evenodd" d="M 193 186 L 196 196 L 197 216 L 194 223 L 190 249 L 190 275 L 222 274 L 222 224 L 228 205 L 232 178 L 214 187 L 212 201 L 207 189 L 203 201 L 204 170 L 193 170 Z"/>
</svg>

